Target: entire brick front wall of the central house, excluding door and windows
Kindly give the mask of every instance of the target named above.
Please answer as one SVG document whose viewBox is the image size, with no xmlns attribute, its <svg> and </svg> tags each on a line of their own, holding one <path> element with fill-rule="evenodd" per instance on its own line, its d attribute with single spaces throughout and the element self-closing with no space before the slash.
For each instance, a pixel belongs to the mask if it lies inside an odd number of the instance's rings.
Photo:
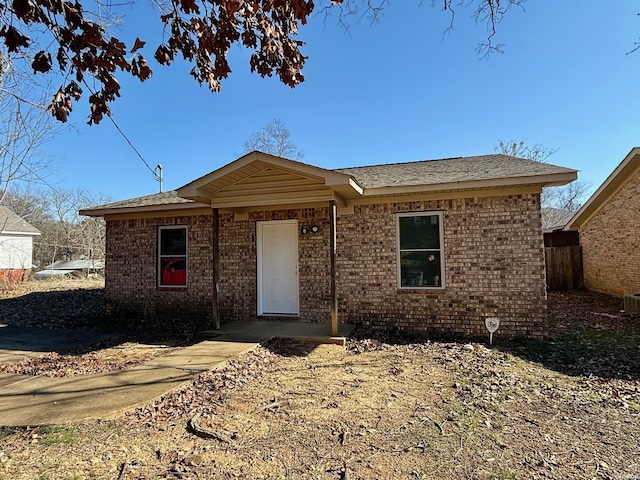
<svg viewBox="0 0 640 480">
<path fill-rule="evenodd" d="M 443 212 L 442 290 L 397 286 L 395 214 L 419 211 Z M 298 221 L 299 232 L 303 226 L 320 227 L 318 233 L 298 235 L 299 320 L 329 322 L 329 218 L 323 207 L 250 212 L 246 220 L 220 214 L 223 322 L 257 318 L 256 222 L 289 219 Z M 156 229 L 171 224 L 189 226 L 189 287 L 184 290 L 155 286 Z M 170 310 L 176 319 L 187 311 L 210 318 L 211 217 L 108 221 L 107 229 L 110 309 L 135 305 L 146 316 Z M 546 334 L 537 194 L 355 206 L 353 214 L 338 217 L 337 252 L 340 322 L 477 335 L 486 333 L 485 318 L 496 316 L 502 322 L 499 335 Z"/>
</svg>

